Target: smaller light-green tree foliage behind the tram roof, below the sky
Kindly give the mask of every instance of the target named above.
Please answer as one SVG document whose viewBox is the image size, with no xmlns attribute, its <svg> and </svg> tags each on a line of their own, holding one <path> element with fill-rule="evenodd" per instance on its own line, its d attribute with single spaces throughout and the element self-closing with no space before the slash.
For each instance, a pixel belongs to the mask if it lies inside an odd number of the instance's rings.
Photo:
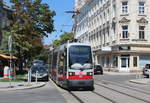
<svg viewBox="0 0 150 103">
<path fill-rule="evenodd" d="M 53 47 L 56 48 L 59 45 L 66 43 L 68 40 L 73 39 L 73 35 L 74 34 L 72 32 L 64 32 L 64 34 L 60 36 L 60 40 L 54 40 Z"/>
</svg>

